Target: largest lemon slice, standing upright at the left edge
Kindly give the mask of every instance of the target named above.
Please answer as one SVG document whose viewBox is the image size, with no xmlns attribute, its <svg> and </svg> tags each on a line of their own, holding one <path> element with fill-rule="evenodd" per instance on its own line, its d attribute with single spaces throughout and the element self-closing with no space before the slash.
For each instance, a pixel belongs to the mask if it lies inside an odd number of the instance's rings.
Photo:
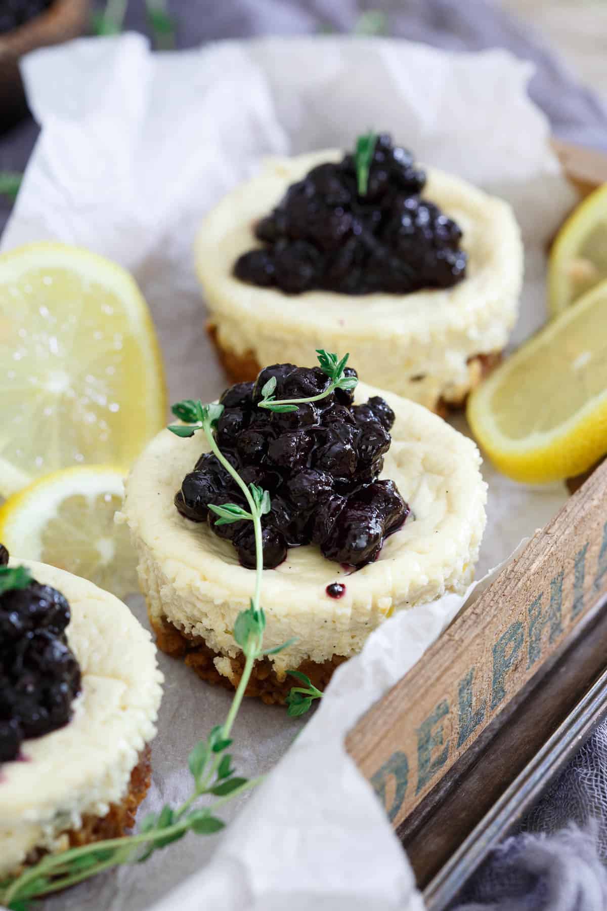
<svg viewBox="0 0 607 911">
<path fill-rule="evenodd" d="M 165 412 L 156 334 L 128 272 L 58 243 L 0 256 L 0 494 L 70 465 L 128 467 Z"/>
</svg>

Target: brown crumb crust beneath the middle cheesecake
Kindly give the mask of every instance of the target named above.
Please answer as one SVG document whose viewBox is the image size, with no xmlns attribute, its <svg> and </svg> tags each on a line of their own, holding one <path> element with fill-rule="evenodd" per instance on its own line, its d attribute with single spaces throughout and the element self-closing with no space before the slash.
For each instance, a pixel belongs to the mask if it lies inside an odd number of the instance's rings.
<svg viewBox="0 0 607 911">
<path fill-rule="evenodd" d="M 207 642 L 200 636 L 188 635 L 183 630 L 178 630 L 166 618 L 149 618 L 150 624 L 156 634 L 157 647 L 171 658 L 185 660 L 187 667 L 195 670 L 201 680 L 215 683 L 227 690 L 236 690 L 245 667 L 244 655 L 237 658 L 228 658 L 220 652 L 211 649 Z M 228 676 L 219 673 L 215 666 L 215 659 L 227 661 L 229 665 Z M 299 670 L 306 674 L 310 681 L 319 688 L 324 688 L 329 683 L 333 671 L 347 660 L 343 655 L 333 657 L 322 663 L 305 660 L 292 670 Z M 284 704 L 288 691 L 298 683 L 293 677 L 287 676 L 284 680 L 278 677 L 272 662 L 268 658 L 258 660 L 253 665 L 253 672 L 248 681 L 245 696 L 254 696 L 265 702 L 266 705 Z"/>
</svg>

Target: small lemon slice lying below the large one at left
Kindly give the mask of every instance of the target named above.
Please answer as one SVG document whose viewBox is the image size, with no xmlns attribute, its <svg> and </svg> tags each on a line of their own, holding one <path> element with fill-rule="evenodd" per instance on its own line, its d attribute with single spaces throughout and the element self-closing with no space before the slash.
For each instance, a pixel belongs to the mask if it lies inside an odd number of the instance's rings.
<svg viewBox="0 0 607 911">
<path fill-rule="evenodd" d="M 114 466 L 41 477 L 0 507 L 0 541 L 15 558 L 66 569 L 124 599 L 138 585 L 128 528 L 114 521 L 125 495 L 123 478 Z"/>
</svg>

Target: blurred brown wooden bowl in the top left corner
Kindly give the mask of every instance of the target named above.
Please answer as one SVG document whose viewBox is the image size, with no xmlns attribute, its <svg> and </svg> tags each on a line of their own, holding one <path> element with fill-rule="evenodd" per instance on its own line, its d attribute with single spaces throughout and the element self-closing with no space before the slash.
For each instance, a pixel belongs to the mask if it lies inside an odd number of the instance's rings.
<svg viewBox="0 0 607 911">
<path fill-rule="evenodd" d="M 89 0 L 55 0 L 24 26 L 0 35 L 0 132 L 27 113 L 19 58 L 36 47 L 58 45 L 82 35 L 88 12 Z"/>
</svg>

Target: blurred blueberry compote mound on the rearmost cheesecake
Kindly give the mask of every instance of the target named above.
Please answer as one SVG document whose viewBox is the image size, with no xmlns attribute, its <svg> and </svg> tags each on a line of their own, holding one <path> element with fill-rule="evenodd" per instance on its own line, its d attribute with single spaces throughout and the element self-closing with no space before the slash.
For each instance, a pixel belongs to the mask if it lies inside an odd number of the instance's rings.
<svg viewBox="0 0 607 911">
<path fill-rule="evenodd" d="M 318 165 L 258 221 L 255 236 L 264 246 L 240 256 L 234 274 L 288 294 L 450 288 L 465 278 L 468 257 L 455 221 L 421 199 L 425 182 L 410 152 L 385 134 L 377 138 L 364 196 L 352 155 Z"/>
</svg>

